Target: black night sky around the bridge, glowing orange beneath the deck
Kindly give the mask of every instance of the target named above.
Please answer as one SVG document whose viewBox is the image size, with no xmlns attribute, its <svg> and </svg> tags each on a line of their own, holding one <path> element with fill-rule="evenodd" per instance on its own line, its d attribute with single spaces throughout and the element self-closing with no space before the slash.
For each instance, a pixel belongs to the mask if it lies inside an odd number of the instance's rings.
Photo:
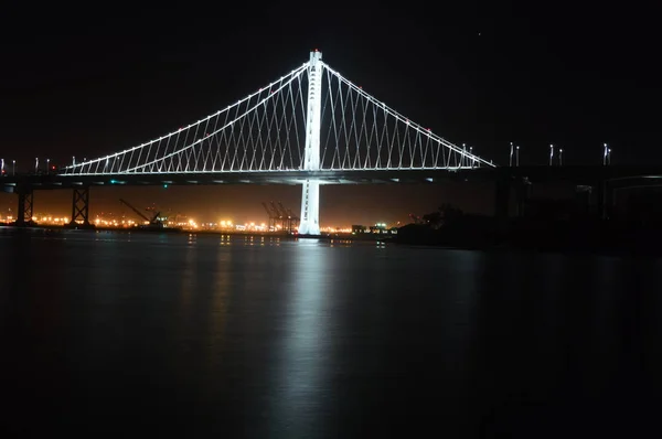
<svg viewBox="0 0 662 439">
<path fill-rule="evenodd" d="M 564 148 L 566 163 L 599 163 L 602 142 L 615 163 L 662 161 L 656 11 L 609 2 L 435 3 L 8 7 L 0 157 L 29 168 L 35 157 L 68 163 L 141 143 L 224 108 L 319 49 L 367 93 L 498 163 L 508 162 L 510 141 L 522 146 L 522 163 L 544 164 L 549 143 Z M 297 210 L 300 190 L 124 191 L 93 211 L 119 210 L 115 199 L 132 196 L 248 217 L 271 197 Z M 444 197 L 477 203 L 471 191 L 448 188 L 335 188 L 322 196 L 323 224 L 392 221 Z M 50 206 L 49 197 L 60 195 L 42 196 Z M 194 207 L 200 200 L 206 204 Z M 53 208 L 66 212 L 64 204 Z"/>
</svg>

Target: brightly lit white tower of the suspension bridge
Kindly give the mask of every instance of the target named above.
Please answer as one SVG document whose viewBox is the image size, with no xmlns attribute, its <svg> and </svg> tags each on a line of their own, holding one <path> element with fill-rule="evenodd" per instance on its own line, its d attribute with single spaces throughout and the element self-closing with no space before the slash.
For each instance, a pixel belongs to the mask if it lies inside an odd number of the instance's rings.
<svg viewBox="0 0 662 439">
<path fill-rule="evenodd" d="M 306 118 L 306 149 L 303 152 L 303 171 L 320 170 L 320 119 L 322 111 L 322 53 L 310 52 L 308 64 L 308 109 Z M 320 234 L 320 182 L 307 179 L 301 193 L 301 220 L 299 234 Z"/>
</svg>

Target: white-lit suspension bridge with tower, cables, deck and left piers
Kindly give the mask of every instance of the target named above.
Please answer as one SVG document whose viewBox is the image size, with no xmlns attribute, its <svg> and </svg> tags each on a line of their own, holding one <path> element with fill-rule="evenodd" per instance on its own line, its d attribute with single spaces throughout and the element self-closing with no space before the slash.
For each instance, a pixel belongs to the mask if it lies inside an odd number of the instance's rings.
<svg viewBox="0 0 662 439">
<path fill-rule="evenodd" d="M 2 185 L 19 194 L 18 225 L 32 218 L 34 190 L 73 188 L 74 225 L 88 224 L 94 185 L 300 184 L 299 233 L 319 235 L 321 184 L 433 181 L 430 172 L 481 168 L 494 164 L 369 95 L 316 50 L 301 66 L 185 127 Z"/>
</svg>

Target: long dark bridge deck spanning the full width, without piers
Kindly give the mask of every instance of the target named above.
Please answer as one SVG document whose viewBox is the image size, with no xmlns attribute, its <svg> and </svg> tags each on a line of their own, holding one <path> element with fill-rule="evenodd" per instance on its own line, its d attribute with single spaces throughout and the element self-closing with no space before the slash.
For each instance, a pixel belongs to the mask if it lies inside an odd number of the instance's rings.
<svg viewBox="0 0 662 439">
<path fill-rule="evenodd" d="M 457 170 L 362 170 L 362 171 L 273 171 L 273 172 L 191 172 L 178 174 L 122 173 L 108 175 L 18 174 L 0 178 L 3 192 L 17 186 L 32 190 L 54 190 L 108 185 L 220 185 L 220 184 L 301 184 L 307 179 L 321 184 L 425 184 L 444 181 L 485 181 L 526 179 L 531 183 L 568 181 L 577 185 L 632 185 L 636 182 L 662 184 L 662 165 L 555 165 L 498 167 Z M 655 180 L 660 180 L 658 183 Z"/>
</svg>

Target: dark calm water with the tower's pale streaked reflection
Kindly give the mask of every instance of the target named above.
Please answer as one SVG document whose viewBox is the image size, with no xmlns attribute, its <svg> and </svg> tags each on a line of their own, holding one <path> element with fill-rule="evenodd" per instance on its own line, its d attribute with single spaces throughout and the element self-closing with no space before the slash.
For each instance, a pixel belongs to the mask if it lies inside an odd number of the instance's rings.
<svg viewBox="0 0 662 439">
<path fill-rule="evenodd" d="M 2 232 L 0 276 L 23 437 L 72 414 L 150 435 L 619 431 L 659 401 L 661 260 Z"/>
</svg>

